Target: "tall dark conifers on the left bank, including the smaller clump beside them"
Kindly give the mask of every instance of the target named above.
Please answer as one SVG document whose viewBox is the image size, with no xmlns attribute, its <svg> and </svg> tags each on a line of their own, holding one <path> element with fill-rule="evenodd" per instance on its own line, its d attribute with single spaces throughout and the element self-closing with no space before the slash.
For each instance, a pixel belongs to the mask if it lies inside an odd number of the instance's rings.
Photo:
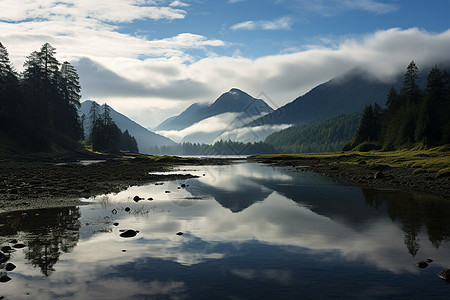
<svg viewBox="0 0 450 300">
<path fill-rule="evenodd" d="M 18 152 L 82 150 L 86 138 L 94 150 L 137 152 L 128 132 L 122 133 L 105 112 L 92 119 L 91 133 L 84 137 L 78 117 L 81 87 L 74 66 L 55 58 L 49 43 L 26 57 L 18 73 L 0 43 L 0 138 Z M 107 107 L 107 106 L 106 106 Z M 134 143 L 133 143 L 134 141 Z"/>
</svg>

